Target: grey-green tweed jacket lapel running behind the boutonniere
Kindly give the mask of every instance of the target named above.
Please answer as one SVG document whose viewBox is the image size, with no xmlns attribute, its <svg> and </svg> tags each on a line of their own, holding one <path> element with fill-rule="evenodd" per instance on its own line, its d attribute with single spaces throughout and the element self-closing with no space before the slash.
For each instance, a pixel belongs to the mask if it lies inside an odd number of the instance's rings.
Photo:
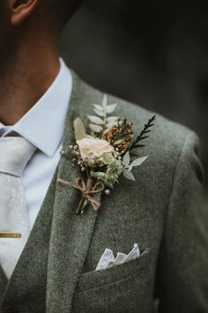
<svg viewBox="0 0 208 313">
<path fill-rule="evenodd" d="M 84 99 L 81 82 L 73 73 L 71 103 L 66 119 L 63 149 L 74 144 L 73 119 L 82 116 Z M 80 176 L 78 166 L 61 156 L 58 179 L 74 182 Z M 73 187 L 56 183 L 56 198 L 48 256 L 47 312 L 70 312 L 73 294 L 87 254 L 97 213 L 88 208 L 75 215 L 80 194 Z M 100 200 L 100 195 L 97 196 Z"/>
</svg>

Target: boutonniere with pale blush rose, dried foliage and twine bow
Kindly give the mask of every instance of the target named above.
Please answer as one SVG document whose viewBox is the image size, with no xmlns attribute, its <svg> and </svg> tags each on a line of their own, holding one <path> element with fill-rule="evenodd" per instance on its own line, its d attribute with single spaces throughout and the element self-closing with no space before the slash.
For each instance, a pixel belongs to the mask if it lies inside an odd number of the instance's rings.
<svg viewBox="0 0 208 313">
<path fill-rule="evenodd" d="M 60 184 L 80 191 L 76 214 L 82 214 L 89 203 L 93 210 L 99 210 L 100 202 L 95 195 L 101 192 L 109 195 L 122 174 L 126 179 L 135 180 L 134 167 L 148 157 L 137 157 L 136 152 L 145 146 L 156 116 L 149 119 L 135 138 L 132 122 L 111 115 L 116 107 L 117 103 L 108 104 L 108 97 L 104 95 L 101 105 L 93 104 L 95 115 L 88 115 L 85 124 L 81 118 L 74 120 L 76 144 L 61 151 L 64 156 L 71 156 L 82 172 L 74 182 L 58 179 Z"/>
</svg>

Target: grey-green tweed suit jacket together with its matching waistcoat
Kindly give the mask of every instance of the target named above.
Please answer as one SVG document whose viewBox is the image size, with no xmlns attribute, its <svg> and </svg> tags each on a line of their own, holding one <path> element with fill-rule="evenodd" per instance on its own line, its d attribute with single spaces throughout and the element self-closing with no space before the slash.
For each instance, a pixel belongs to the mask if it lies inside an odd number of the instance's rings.
<svg viewBox="0 0 208 313">
<path fill-rule="evenodd" d="M 63 147 L 73 144 L 72 120 L 92 112 L 103 94 L 73 74 Z M 152 112 L 108 95 L 117 115 L 139 132 Z M 47 121 L 46 121 L 47 123 Z M 74 211 L 79 172 L 60 156 L 33 230 L 10 281 L 0 271 L 1 312 L 208 312 L 208 233 L 202 210 L 203 172 L 198 140 L 189 129 L 157 116 L 135 169 L 137 182 L 120 179 L 111 195 L 100 195 L 98 213 Z M 38 169 L 37 169 L 38 170 Z M 142 256 L 95 271 L 105 248 Z"/>
</svg>

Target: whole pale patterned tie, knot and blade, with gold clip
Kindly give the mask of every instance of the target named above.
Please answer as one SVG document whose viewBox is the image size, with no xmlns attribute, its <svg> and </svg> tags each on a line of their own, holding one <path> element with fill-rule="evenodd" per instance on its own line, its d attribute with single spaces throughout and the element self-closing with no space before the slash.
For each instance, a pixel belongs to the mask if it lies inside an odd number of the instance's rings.
<svg viewBox="0 0 208 313">
<path fill-rule="evenodd" d="M 21 176 L 35 149 L 22 137 L 0 138 L 0 233 L 21 233 L 20 238 L 0 237 L 0 264 L 9 279 L 29 236 Z"/>
</svg>

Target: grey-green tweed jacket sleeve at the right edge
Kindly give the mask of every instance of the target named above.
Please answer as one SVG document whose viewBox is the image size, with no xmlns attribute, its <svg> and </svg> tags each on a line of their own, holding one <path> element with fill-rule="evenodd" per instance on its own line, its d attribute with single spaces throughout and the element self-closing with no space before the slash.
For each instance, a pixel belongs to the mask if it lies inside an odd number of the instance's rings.
<svg viewBox="0 0 208 313">
<path fill-rule="evenodd" d="M 160 313 L 208 312 L 208 214 L 203 193 L 197 135 L 189 132 L 178 158 L 160 246 L 155 287 Z"/>
</svg>

